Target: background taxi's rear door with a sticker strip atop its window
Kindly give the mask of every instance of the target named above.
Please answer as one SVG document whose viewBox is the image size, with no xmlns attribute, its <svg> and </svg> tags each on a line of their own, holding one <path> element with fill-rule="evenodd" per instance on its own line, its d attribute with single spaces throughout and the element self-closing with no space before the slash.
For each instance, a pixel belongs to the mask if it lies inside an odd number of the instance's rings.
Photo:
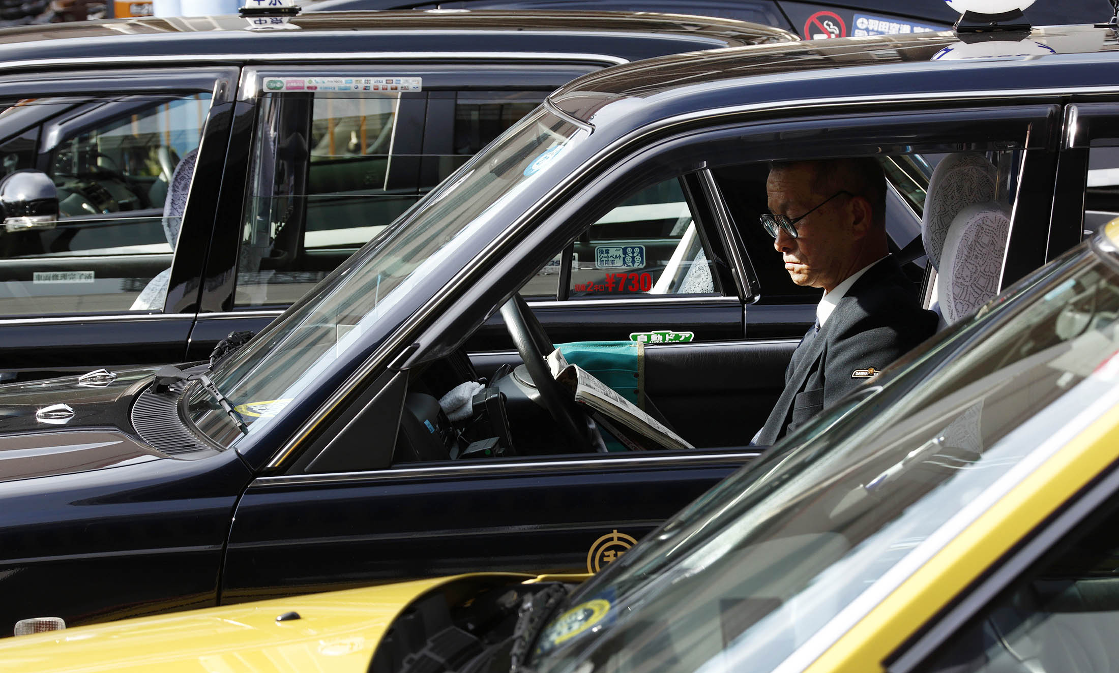
<svg viewBox="0 0 1119 673">
<path fill-rule="evenodd" d="M 557 60 L 246 69 L 229 164 L 248 187 L 222 196 L 189 358 L 262 329 L 548 92 L 593 69 Z"/>
</svg>

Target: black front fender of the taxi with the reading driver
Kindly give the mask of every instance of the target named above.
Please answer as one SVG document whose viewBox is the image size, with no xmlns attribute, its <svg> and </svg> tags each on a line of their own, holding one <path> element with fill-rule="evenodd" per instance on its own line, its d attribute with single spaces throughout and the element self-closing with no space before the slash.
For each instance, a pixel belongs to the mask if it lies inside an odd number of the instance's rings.
<svg viewBox="0 0 1119 673">
<path fill-rule="evenodd" d="M 214 605 L 250 478 L 226 452 L 6 483 L 6 624 L 28 610 L 83 623 Z"/>
</svg>

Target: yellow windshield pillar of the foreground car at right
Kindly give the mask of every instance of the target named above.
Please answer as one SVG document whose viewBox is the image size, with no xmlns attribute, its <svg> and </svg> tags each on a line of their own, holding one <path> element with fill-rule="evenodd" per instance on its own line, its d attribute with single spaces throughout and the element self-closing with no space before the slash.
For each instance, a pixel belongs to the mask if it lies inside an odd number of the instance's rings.
<svg viewBox="0 0 1119 673">
<path fill-rule="evenodd" d="M 1117 459 L 1119 407 L 1112 407 L 948 542 L 806 672 L 885 671 L 887 656 Z"/>
</svg>

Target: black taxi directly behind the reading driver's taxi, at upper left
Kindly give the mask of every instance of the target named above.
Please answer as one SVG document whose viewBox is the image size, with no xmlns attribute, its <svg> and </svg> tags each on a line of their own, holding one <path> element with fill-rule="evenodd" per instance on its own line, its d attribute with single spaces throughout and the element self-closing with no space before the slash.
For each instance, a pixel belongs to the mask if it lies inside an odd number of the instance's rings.
<svg viewBox="0 0 1119 673">
<path fill-rule="evenodd" d="M 0 222 L 0 380 L 205 358 L 573 77 L 794 39 L 732 20 L 547 11 L 0 31 L 0 173 L 40 173 L 58 199 L 56 217 L 17 200 Z"/>
</svg>

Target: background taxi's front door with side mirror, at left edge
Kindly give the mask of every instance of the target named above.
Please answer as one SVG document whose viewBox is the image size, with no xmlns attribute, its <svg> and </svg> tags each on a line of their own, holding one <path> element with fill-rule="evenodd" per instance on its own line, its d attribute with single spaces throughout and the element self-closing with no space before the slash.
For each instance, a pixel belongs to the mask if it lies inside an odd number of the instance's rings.
<svg viewBox="0 0 1119 673">
<path fill-rule="evenodd" d="M 182 359 L 236 78 L 210 67 L 0 80 L 2 171 L 46 173 L 60 210 L 0 229 L 0 379 Z"/>
</svg>

